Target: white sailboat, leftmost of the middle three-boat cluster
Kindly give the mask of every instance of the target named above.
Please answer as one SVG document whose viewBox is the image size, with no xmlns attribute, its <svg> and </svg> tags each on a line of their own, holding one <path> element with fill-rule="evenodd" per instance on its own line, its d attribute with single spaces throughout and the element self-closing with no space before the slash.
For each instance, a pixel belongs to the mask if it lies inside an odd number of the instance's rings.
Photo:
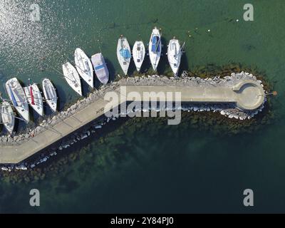
<svg viewBox="0 0 285 228">
<path fill-rule="evenodd" d="M 76 71 L 76 68 L 74 68 L 71 63 L 63 64 L 63 75 L 64 78 L 66 78 L 68 85 L 71 86 L 76 93 L 82 95 L 80 77 Z"/>
</svg>

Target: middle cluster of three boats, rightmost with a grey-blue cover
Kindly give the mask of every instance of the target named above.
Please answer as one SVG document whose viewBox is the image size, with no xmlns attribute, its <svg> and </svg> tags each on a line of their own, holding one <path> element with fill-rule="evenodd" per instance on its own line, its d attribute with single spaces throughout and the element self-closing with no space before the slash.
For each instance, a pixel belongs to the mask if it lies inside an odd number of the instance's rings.
<svg viewBox="0 0 285 228">
<path fill-rule="evenodd" d="M 94 73 L 100 83 L 107 84 L 109 81 L 109 71 L 102 53 L 96 53 L 88 58 L 81 48 L 76 48 L 74 53 L 75 67 L 70 63 L 63 64 L 63 76 L 71 88 L 82 96 L 81 78 L 91 88 L 94 88 Z M 81 78 L 80 78 L 81 77 Z"/>
</svg>

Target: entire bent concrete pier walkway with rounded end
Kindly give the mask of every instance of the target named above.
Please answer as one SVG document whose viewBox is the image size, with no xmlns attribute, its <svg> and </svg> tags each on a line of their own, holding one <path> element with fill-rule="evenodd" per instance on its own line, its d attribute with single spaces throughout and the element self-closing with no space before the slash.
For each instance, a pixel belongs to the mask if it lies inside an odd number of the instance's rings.
<svg viewBox="0 0 285 228">
<path fill-rule="evenodd" d="M 120 87 L 113 90 L 122 98 Z M 193 103 L 234 103 L 241 110 L 255 110 L 265 100 L 264 89 L 260 83 L 251 80 L 243 80 L 233 86 L 126 86 L 127 93 L 137 92 L 143 98 L 143 93 L 181 93 L 182 102 Z M 119 103 L 132 100 L 128 95 Z M 170 100 L 167 100 L 170 101 Z M 104 115 L 105 105 L 110 103 L 103 97 L 90 102 L 85 108 L 76 111 L 73 115 L 65 118 L 60 123 L 38 133 L 33 138 L 20 145 L 1 145 L 0 163 L 16 164 L 26 160 L 31 155 L 40 152 L 49 145 L 58 142 L 84 125 Z M 113 103 L 113 105 L 116 105 Z M 117 104 L 118 105 L 118 104 Z"/>
</svg>

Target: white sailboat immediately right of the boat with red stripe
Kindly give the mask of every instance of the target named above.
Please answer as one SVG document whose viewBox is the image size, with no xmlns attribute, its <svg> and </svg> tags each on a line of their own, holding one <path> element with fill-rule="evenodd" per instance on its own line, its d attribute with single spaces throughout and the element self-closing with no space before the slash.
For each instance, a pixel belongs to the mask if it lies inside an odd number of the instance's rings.
<svg viewBox="0 0 285 228">
<path fill-rule="evenodd" d="M 53 83 L 48 78 L 43 79 L 43 95 L 51 110 L 56 112 L 58 96 L 56 95 L 56 88 L 54 88 Z"/>
</svg>

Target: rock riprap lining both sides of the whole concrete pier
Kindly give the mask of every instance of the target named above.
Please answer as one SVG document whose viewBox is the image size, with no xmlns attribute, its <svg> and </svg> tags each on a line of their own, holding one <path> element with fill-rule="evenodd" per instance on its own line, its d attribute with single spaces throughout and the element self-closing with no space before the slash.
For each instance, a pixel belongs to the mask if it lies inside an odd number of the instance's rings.
<svg viewBox="0 0 285 228">
<path fill-rule="evenodd" d="M 120 88 L 120 86 L 233 86 L 239 81 L 243 80 L 251 80 L 259 83 L 262 87 L 262 82 L 257 80 L 255 76 L 250 73 L 232 73 L 231 76 L 220 77 L 215 76 L 213 78 L 199 78 L 199 77 L 189 77 L 187 72 L 182 73 L 181 78 L 167 78 L 166 76 L 141 76 L 141 77 L 133 77 L 133 78 L 121 78 L 120 81 L 110 83 L 106 86 L 102 86 L 100 90 L 96 90 L 93 93 L 90 93 L 87 98 L 83 98 L 82 100 L 78 100 L 77 103 L 71 105 L 65 111 L 54 115 L 53 117 L 49 117 L 46 120 L 38 125 L 36 128 L 27 130 L 26 133 L 20 135 L 14 135 L 14 137 L 3 135 L 0 138 L 0 145 L 2 146 L 13 146 L 13 145 L 21 145 L 24 142 L 28 142 L 28 140 L 33 140 L 33 138 L 40 134 L 42 131 L 53 129 L 53 126 L 64 121 L 66 118 L 71 117 L 73 114 L 77 113 L 79 110 L 83 110 L 90 103 L 95 103 L 96 100 L 102 99 L 105 93 L 109 91 L 116 90 Z M 266 98 L 264 99 L 264 102 Z M 227 116 L 228 118 L 233 118 L 237 120 L 248 120 L 257 115 L 262 109 L 264 105 L 261 105 L 257 110 L 240 110 L 233 103 L 182 103 L 178 109 L 185 112 L 214 112 L 220 113 L 221 115 Z M 160 112 L 160 108 L 148 109 L 139 108 L 133 110 L 133 112 L 150 112 L 156 111 Z M 128 113 L 121 113 L 128 114 Z M 56 147 L 53 146 L 51 148 L 46 149 L 45 152 L 41 152 L 40 155 L 33 156 L 33 159 L 27 159 L 23 162 L 20 162 L 16 165 L 1 165 L 1 170 L 11 172 L 12 170 L 27 170 L 36 167 L 43 162 L 46 162 L 49 158 L 54 157 L 59 152 L 64 149 L 71 147 L 75 143 L 84 140 L 96 131 L 103 128 L 104 125 L 109 124 L 113 120 L 120 118 L 120 114 L 117 116 L 113 116 L 111 118 L 106 118 L 105 116 L 101 116 L 100 119 L 93 121 L 85 128 L 81 128 L 79 131 L 71 133 L 60 140 L 60 142 L 56 143 Z"/>
</svg>

